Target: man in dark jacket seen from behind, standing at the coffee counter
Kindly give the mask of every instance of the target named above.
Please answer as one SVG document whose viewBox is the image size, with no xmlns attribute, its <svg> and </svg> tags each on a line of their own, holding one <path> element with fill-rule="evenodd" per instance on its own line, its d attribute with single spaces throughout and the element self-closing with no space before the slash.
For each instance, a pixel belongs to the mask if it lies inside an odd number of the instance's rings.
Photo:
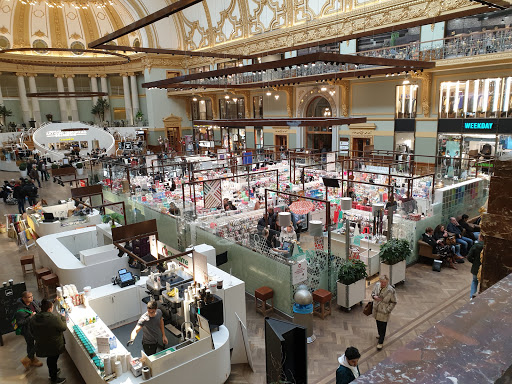
<svg viewBox="0 0 512 384">
<path fill-rule="evenodd" d="M 62 384 L 66 379 L 58 376 L 57 360 L 65 351 L 64 331 L 67 329 L 66 319 L 53 312 L 50 300 L 41 301 L 41 312 L 30 319 L 30 327 L 36 343 L 36 354 L 46 357 L 51 384 Z"/>
</svg>

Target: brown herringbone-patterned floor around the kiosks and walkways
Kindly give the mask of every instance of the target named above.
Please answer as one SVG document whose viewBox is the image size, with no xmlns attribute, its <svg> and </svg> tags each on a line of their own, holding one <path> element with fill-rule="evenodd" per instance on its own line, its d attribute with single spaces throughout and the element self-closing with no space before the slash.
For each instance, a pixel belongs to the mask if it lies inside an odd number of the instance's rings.
<svg viewBox="0 0 512 384">
<path fill-rule="evenodd" d="M 17 173 L 0 172 L 0 182 L 17 177 Z M 40 196 L 50 205 L 55 204 L 58 199 L 69 198 L 69 186 L 61 187 L 45 182 Z M 5 213 L 17 213 L 17 206 L 5 205 L 0 200 L 2 219 Z M 26 254 L 37 255 L 37 250 L 35 247 L 28 251 L 24 247 L 18 248 L 6 234 L 0 234 L 0 282 L 9 279 L 14 279 L 15 282 L 24 280 L 19 258 Z M 36 264 L 37 267 L 41 266 L 37 256 Z M 399 303 L 391 316 L 384 349 L 380 352 L 375 349 L 375 321 L 364 316 L 361 307 L 356 306 L 351 312 L 335 308 L 332 316 L 325 320 L 315 318 L 314 333 L 317 340 L 308 345 L 309 382 L 334 383 L 337 358 L 348 346 L 355 346 L 361 352 L 360 369 L 364 373 L 467 303 L 471 283 L 470 264 L 466 262 L 458 267 L 458 270 L 443 269 L 441 273 L 433 272 L 426 264 L 416 264 L 407 269 L 405 284 L 396 287 Z M 35 277 L 28 274 L 25 282 L 28 289 L 34 292 L 34 296 L 40 299 Z M 371 285 L 368 287 L 370 289 Z M 247 296 L 247 328 L 255 371 L 252 372 L 247 365 L 233 366 L 228 383 L 265 382 L 263 317 L 254 312 L 254 301 L 250 296 Z M 21 365 L 20 360 L 26 355 L 25 342 L 21 336 L 10 333 L 4 335 L 3 339 L 5 345 L 0 347 L 2 384 L 48 383 L 46 366 L 25 371 Z M 59 366 L 68 383 L 87 383 L 87 378 L 80 376 L 67 353 L 60 357 Z"/>
</svg>

